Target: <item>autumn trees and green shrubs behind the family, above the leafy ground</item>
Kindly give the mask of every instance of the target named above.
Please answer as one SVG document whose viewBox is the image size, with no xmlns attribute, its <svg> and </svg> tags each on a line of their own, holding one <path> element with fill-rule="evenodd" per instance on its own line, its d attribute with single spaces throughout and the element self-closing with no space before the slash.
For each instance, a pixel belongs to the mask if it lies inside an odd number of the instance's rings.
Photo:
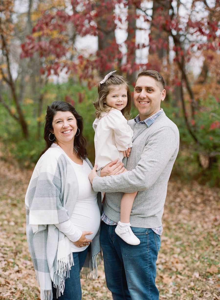
<svg viewBox="0 0 220 300">
<path fill-rule="evenodd" d="M 219 1 L 0 1 L 0 138 L 20 164 L 44 148 L 46 107 L 68 101 L 84 118 L 94 162 L 97 78 L 154 69 L 162 107 L 180 131 L 172 175 L 219 184 Z M 137 115 L 132 107 L 131 116 Z"/>
</svg>

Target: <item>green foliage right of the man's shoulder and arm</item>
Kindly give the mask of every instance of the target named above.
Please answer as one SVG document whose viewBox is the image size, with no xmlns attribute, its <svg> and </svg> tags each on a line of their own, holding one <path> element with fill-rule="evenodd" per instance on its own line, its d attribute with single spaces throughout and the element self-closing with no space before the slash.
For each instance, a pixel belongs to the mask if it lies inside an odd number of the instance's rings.
<svg viewBox="0 0 220 300">
<path fill-rule="evenodd" d="M 180 134 L 180 148 L 173 167 L 172 176 L 179 176 L 186 181 L 196 179 L 200 183 L 211 186 L 220 184 L 220 105 L 215 98 L 200 100 L 191 128 L 198 139 L 194 142 L 185 125 L 179 107 L 163 103 L 166 115 L 177 125 Z M 218 153 L 218 155 L 215 155 Z M 201 155 L 206 159 L 204 163 Z M 213 156 L 212 156 L 213 155 Z"/>
</svg>

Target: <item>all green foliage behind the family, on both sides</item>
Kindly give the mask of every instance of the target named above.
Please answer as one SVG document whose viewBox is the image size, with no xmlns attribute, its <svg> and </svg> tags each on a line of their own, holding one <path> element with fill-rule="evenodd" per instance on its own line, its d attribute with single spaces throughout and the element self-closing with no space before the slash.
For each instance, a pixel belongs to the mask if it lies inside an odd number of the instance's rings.
<svg viewBox="0 0 220 300">
<path fill-rule="evenodd" d="M 74 107 L 84 119 L 84 137 L 87 141 L 87 151 L 89 159 L 94 163 L 94 131 L 92 123 L 95 119 L 95 108 L 93 101 L 97 97 L 97 89 L 88 89 L 87 86 L 76 84 L 70 79 L 66 83 L 49 83 L 44 87 L 44 107 L 42 121 L 47 109 L 47 105 L 55 100 L 74 101 Z M 25 140 L 21 134 L 18 123 L 8 115 L 3 107 L 0 108 L 0 117 L 4 126 L 0 132 L 0 139 L 4 143 L 3 153 L 7 157 L 11 153 L 21 165 L 32 166 L 38 161 L 41 151 L 44 149 L 43 139 L 44 124 L 41 125 L 41 137 L 37 139 L 37 112 L 38 104 L 30 99 L 23 103 L 26 120 L 29 124 L 29 140 Z M 200 161 L 200 155 L 220 152 L 220 129 L 218 128 L 218 116 L 220 116 L 219 103 L 213 97 L 206 101 L 200 100 L 195 122 L 191 128 L 195 132 L 199 144 L 196 144 L 189 134 L 185 120 L 179 107 L 173 106 L 171 102 L 164 101 L 162 107 L 166 115 L 177 125 L 180 133 L 180 150 L 173 167 L 172 176 L 180 177 L 183 180 L 196 179 L 202 183 L 218 185 L 219 175 L 219 155 L 210 158 L 208 167 L 204 168 Z M 137 115 L 134 106 L 131 109 L 131 117 Z"/>
</svg>

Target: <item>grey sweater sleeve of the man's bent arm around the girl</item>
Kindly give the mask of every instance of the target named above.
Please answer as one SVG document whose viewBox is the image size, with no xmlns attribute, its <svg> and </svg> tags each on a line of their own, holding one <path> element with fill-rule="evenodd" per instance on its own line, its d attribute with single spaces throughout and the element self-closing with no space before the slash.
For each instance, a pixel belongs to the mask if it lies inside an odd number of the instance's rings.
<svg viewBox="0 0 220 300">
<path fill-rule="evenodd" d="M 93 189 L 107 193 L 133 193 L 137 190 L 148 189 L 166 167 L 176 150 L 177 142 L 175 133 L 171 128 L 159 129 L 148 138 L 140 161 L 133 170 L 122 174 L 116 172 L 115 174 L 119 174 L 118 176 L 96 176 L 92 182 Z M 101 173 L 101 175 L 104 174 Z"/>
</svg>

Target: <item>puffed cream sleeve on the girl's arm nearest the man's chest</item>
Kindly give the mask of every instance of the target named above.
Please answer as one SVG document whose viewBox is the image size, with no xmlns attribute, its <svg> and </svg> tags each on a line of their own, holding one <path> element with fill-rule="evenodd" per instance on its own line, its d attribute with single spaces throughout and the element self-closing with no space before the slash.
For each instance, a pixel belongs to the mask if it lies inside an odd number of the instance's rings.
<svg viewBox="0 0 220 300">
<path fill-rule="evenodd" d="M 115 144 L 118 151 L 125 151 L 132 147 L 133 131 L 122 113 L 113 109 L 105 116 L 107 126 L 114 131 Z"/>
</svg>

